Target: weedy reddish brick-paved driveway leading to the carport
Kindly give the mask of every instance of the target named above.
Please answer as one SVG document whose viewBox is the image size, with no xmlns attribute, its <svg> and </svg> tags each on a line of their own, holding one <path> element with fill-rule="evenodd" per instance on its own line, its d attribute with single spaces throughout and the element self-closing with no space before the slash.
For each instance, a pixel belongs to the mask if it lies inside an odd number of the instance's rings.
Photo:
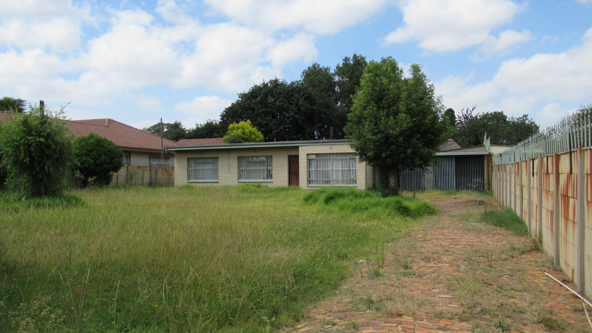
<svg viewBox="0 0 592 333">
<path fill-rule="evenodd" d="M 379 250 L 356 263 L 284 332 L 590 331 L 582 302 L 544 272 L 567 277 L 532 241 L 475 222 L 485 206 L 500 209 L 493 198 L 432 201 L 442 214 L 389 244 L 383 267 Z"/>
</svg>

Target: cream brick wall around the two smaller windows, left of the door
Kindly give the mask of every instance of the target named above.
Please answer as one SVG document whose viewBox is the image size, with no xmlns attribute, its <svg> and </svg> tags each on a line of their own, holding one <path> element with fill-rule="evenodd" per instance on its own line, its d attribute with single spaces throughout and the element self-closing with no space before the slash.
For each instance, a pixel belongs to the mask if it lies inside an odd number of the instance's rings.
<svg viewBox="0 0 592 333">
<path fill-rule="evenodd" d="M 288 155 L 298 155 L 298 147 L 216 149 L 211 151 L 175 151 L 175 185 L 192 184 L 198 186 L 237 185 L 258 183 L 256 181 L 239 182 L 239 156 L 272 156 L 274 180 L 259 182 L 268 186 L 288 185 Z M 187 159 L 194 157 L 218 158 L 217 182 L 188 182 Z"/>
</svg>

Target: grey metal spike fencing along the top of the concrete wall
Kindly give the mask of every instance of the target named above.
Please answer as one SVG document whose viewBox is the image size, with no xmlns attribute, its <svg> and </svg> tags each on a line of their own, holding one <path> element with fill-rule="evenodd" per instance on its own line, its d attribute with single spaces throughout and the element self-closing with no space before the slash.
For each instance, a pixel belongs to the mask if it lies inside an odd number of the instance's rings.
<svg viewBox="0 0 592 333">
<path fill-rule="evenodd" d="M 506 164 L 554 153 L 567 153 L 578 147 L 592 148 L 592 107 L 566 116 L 538 134 L 493 157 L 493 164 Z"/>
</svg>

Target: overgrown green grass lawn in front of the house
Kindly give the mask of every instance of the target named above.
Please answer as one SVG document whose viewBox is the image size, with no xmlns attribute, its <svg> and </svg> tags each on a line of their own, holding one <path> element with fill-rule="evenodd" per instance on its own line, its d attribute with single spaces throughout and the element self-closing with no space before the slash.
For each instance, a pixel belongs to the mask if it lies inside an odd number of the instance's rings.
<svg viewBox="0 0 592 333">
<path fill-rule="evenodd" d="M 40 204 L 0 194 L 0 331 L 265 332 L 433 214 L 323 188 L 118 188 Z"/>
</svg>

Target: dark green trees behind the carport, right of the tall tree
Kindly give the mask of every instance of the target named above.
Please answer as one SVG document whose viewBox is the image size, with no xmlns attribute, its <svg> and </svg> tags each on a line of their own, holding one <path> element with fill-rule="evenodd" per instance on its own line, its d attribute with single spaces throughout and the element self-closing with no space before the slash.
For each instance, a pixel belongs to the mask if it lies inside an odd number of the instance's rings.
<svg viewBox="0 0 592 333">
<path fill-rule="evenodd" d="M 521 117 L 507 117 L 503 111 L 475 114 L 475 108 L 461 111 L 453 139 L 462 147 L 483 143 L 485 133 L 492 145 L 516 145 L 527 137 L 538 133 L 539 126 L 527 114 Z"/>
</svg>

